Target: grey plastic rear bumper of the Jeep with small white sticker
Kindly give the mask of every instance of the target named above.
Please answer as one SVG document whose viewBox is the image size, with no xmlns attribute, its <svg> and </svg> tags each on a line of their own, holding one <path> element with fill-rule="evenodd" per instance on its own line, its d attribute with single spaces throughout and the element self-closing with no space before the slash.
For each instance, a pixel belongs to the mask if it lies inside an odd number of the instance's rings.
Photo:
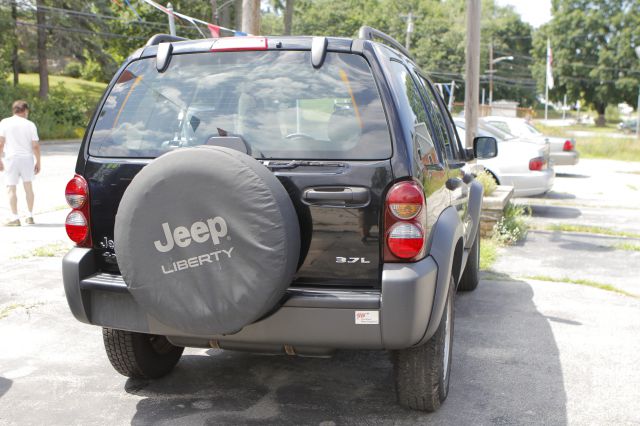
<svg viewBox="0 0 640 426">
<path fill-rule="evenodd" d="M 63 259 L 67 301 L 79 321 L 165 335 L 181 346 L 300 354 L 401 349 L 429 338 L 437 273 L 436 262 L 427 257 L 411 264 L 386 264 L 380 290 L 292 287 L 279 309 L 238 333 L 193 336 L 145 312 L 121 276 L 98 273 L 91 249 L 74 248 Z"/>
</svg>

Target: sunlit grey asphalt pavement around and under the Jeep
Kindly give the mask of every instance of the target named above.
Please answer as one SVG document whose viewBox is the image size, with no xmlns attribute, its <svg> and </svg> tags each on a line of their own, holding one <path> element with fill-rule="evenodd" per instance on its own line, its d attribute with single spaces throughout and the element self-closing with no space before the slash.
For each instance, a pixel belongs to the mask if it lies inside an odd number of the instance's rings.
<svg viewBox="0 0 640 426">
<path fill-rule="evenodd" d="M 640 424 L 640 299 L 530 278 L 638 288 L 638 252 L 612 248 L 631 239 L 544 227 L 636 232 L 640 163 L 583 160 L 558 169 L 552 193 L 517 200 L 534 206 L 540 230 L 502 249 L 476 291 L 457 295 L 449 398 L 424 414 L 396 405 L 384 352 L 312 359 L 187 349 L 163 379 L 117 374 L 100 329 L 72 317 L 62 289 L 61 194 L 77 148 L 44 147 L 35 183 L 43 213 L 34 226 L 0 228 L 2 425 Z"/>
</svg>

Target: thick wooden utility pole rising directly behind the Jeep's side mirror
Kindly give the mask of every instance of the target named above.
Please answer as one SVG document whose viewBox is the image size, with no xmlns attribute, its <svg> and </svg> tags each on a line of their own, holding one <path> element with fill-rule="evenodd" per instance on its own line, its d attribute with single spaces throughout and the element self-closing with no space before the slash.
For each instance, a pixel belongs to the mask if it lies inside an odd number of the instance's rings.
<svg viewBox="0 0 640 426">
<path fill-rule="evenodd" d="M 467 52 L 464 88 L 465 146 L 473 147 L 478 127 L 480 88 L 480 0 L 467 0 Z"/>
</svg>

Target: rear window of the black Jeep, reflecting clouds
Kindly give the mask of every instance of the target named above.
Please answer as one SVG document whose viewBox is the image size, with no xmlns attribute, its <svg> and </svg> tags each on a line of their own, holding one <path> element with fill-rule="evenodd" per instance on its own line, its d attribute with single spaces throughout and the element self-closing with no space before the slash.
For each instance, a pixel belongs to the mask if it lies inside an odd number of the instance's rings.
<svg viewBox="0 0 640 426">
<path fill-rule="evenodd" d="M 256 158 L 385 159 L 391 140 L 371 69 L 358 55 L 215 52 L 131 63 L 111 89 L 89 145 L 99 157 L 157 157 L 241 141 Z M 226 145 L 225 145 L 226 146 Z"/>
</svg>

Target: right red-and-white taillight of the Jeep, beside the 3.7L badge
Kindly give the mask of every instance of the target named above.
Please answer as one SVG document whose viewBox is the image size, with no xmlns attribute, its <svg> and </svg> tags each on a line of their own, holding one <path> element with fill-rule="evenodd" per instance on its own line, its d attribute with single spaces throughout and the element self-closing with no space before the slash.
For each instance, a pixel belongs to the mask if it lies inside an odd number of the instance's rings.
<svg viewBox="0 0 640 426">
<path fill-rule="evenodd" d="M 399 182 L 387 193 L 384 214 L 384 261 L 413 262 L 424 257 L 426 205 L 420 184 Z"/>
</svg>

